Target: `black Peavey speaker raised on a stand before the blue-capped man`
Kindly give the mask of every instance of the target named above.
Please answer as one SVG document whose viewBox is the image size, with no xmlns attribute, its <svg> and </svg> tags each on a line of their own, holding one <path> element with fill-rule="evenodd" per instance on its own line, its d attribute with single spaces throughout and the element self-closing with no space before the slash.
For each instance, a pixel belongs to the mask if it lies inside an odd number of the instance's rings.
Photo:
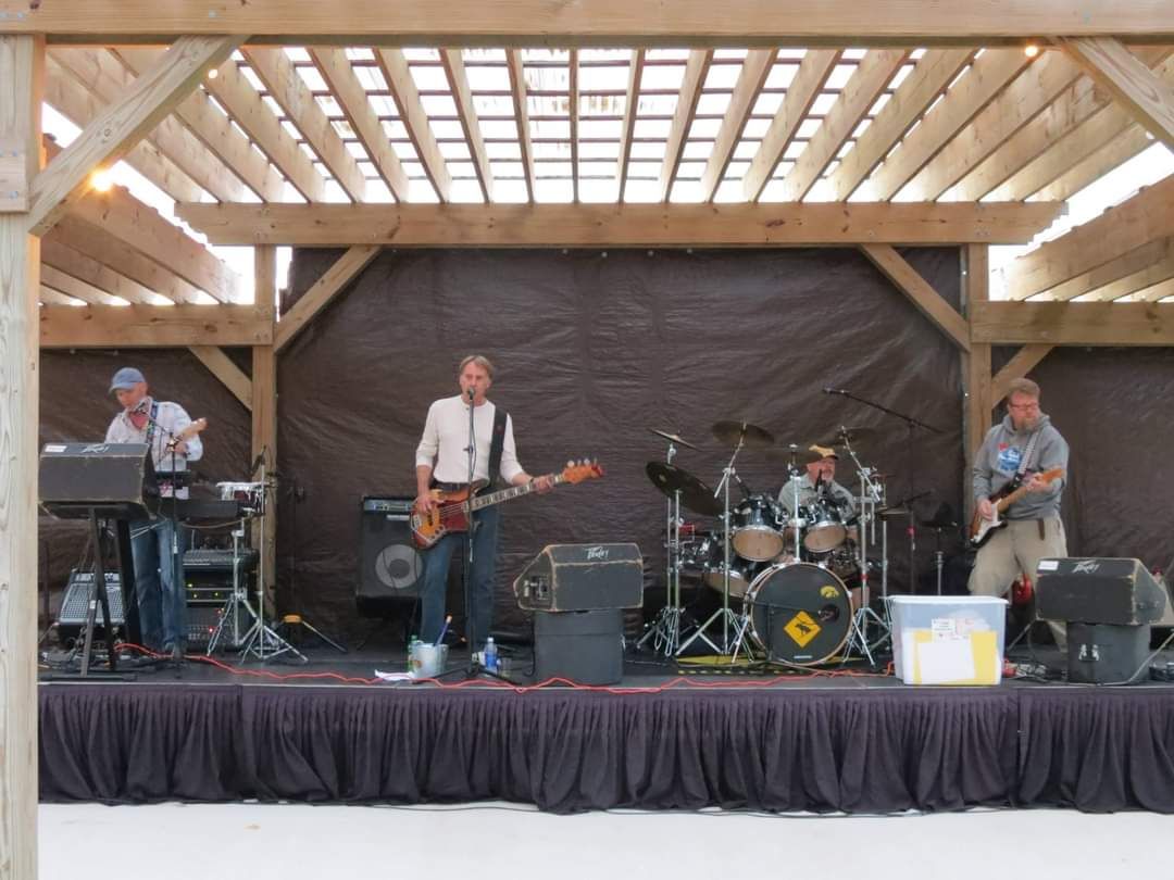
<svg viewBox="0 0 1174 880">
<path fill-rule="evenodd" d="M 158 509 L 158 481 L 147 444 L 46 444 L 40 503 L 59 519 L 141 520 Z"/>
</svg>

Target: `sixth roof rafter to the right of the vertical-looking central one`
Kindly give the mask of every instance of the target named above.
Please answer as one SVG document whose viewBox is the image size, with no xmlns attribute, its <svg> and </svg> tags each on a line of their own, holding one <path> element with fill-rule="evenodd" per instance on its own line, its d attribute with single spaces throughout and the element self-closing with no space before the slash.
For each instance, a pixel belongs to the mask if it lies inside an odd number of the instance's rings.
<svg viewBox="0 0 1174 880">
<path fill-rule="evenodd" d="M 856 140 L 856 145 L 828 176 L 836 198 L 844 201 L 856 191 L 893 144 L 905 136 L 926 108 L 945 92 L 973 54 L 971 48 L 930 49 L 922 56 L 913 72 L 880 108 L 872 124 Z"/>
</svg>

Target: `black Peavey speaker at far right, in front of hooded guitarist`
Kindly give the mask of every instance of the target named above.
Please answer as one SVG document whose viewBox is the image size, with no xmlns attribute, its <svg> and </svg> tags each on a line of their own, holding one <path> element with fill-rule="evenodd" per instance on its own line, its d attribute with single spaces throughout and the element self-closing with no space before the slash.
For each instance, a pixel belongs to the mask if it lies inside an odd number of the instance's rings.
<svg viewBox="0 0 1174 880">
<path fill-rule="evenodd" d="M 1035 610 L 1048 621 L 1139 625 L 1156 623 L 1166 591 L 1141 560 L 1040 560 Z"/>
</svg>

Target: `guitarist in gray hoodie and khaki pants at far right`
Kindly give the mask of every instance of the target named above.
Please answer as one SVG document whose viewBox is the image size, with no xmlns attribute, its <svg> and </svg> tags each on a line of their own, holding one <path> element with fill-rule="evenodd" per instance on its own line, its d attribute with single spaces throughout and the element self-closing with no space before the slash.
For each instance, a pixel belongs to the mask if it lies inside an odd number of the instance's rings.
<svg viewBox="0 0 1174 880">
<path fill-rule="evenodd" d="M 1041 559 L 1067 556 L 1060 495 L 1068 469 L 1068 444 L 1039 408 L 1039 386 L 1016 379 L 1007 415 L 986 432 L 974 456 L 974 522 L 979 548 L 970 591 L 1001 596 L 1020 575 L 1034 582 Z M 1064 648 L 1062 624 L 1050 624 Z"/>
</svg>

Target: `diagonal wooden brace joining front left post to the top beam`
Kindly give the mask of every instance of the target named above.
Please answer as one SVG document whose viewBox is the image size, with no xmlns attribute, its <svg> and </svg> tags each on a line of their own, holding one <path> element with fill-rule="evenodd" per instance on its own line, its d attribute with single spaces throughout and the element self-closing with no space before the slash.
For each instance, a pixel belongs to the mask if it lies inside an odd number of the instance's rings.
<svg viewBox="0 0 1174 880">
<path fill-rule="evenodd" d="M 89 174 L 114 164 L 142 136 L 168 116 L 209 67 L 228 57 L 239 43 L 230 36 L 181 36 L 157 62 L 135 80 L 129 92 L 107 107 L 45 169 L 33 184 L 29 231 L 45 235 L 74 202 L 86 195 Z"/>
</svg>

